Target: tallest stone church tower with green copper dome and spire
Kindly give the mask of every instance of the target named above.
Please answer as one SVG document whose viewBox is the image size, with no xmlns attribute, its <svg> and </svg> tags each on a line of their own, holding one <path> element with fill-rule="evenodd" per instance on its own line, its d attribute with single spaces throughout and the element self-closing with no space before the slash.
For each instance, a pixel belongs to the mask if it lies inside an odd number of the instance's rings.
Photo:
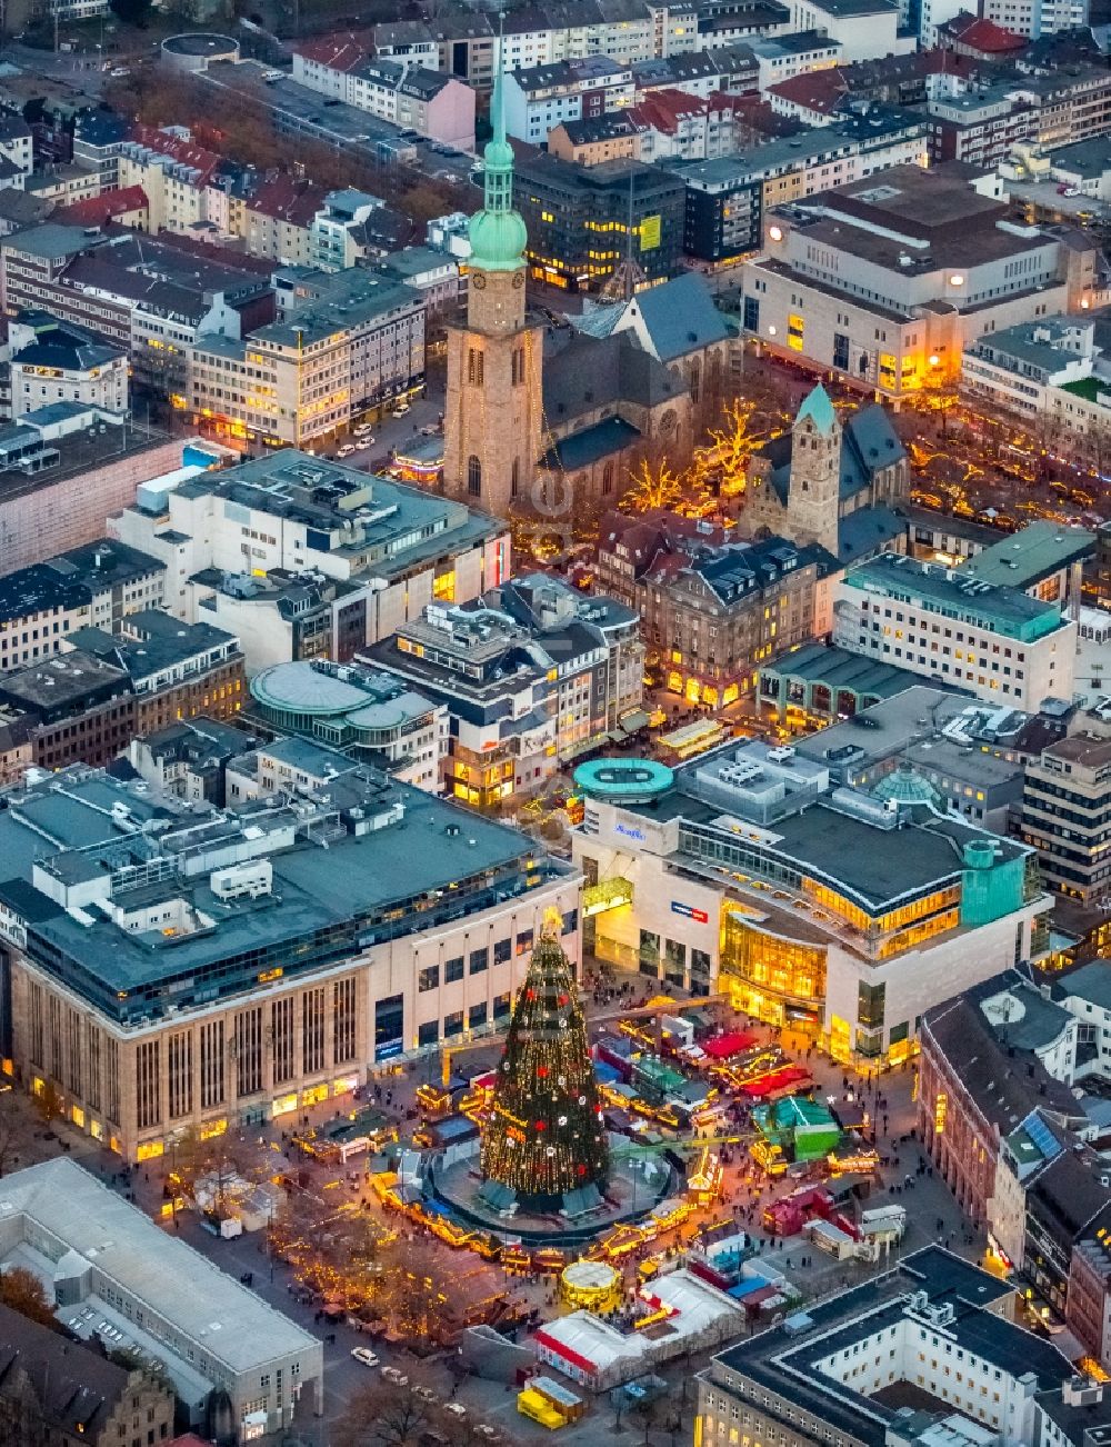
<svg viewBox="0 0 1111 1447">
<path fill-rule="evenodd" d="M 544 330 L 525 320 L 525 223 L 514 210 L 503 61 L 490 103 L 483 208 L 470 218 L 466 326 L 447 334 L 444 492 L 499 517 L 528 509 L 542 444 Z"/>
</svg>

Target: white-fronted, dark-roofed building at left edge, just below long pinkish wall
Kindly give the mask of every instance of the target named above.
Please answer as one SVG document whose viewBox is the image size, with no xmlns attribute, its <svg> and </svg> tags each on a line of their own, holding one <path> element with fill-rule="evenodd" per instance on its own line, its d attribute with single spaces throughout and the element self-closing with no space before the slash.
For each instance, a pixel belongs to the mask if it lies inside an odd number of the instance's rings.
<svg viewBox="0 0 1111 1447">
<path fill-rule="evenodd" d="M 51 658 L 78 628 L 119 628 L 165 602 L 156 557 L 101 538 L 0 577 L 0 673 Z"/>
</svg>

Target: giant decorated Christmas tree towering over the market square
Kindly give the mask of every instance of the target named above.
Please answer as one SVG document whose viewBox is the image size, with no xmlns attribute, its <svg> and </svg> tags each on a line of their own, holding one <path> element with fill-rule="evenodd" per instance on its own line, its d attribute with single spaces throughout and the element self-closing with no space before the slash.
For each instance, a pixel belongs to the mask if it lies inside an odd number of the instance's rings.
<svg viewBox="0 0 1111 1447">
<path fill-rule="evenodd" d="M 535 1205 L 606 1184 L 606 1133 L 574 971 L 545 925 L 516 998 L 493 1108 L 482 1133 L 486 1176 Z"/>
</svg>

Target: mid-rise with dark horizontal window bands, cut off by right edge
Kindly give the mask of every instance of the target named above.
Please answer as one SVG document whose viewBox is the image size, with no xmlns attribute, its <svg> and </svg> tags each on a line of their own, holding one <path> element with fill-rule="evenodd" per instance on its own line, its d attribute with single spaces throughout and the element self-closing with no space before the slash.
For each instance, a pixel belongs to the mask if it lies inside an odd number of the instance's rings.
<svg viewBox="0 0 1111 1447">
<path fill-rule="evenodd" d="M 1084 904 L 1111 896 L 1111 737 L 1078 732 L 1050 744 L 1026 770 L 1021 836 L 1037 849 L 1049 888 Z"/>
</svg>

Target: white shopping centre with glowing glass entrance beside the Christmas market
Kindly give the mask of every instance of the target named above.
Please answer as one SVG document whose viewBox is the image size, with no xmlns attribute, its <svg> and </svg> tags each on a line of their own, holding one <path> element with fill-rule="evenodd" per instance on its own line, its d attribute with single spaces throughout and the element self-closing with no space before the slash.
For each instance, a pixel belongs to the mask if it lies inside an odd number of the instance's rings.
<svg viewBox="0 0 1111 1447">
<path fill-rule="evenodd" d="M 725 993 L 835 1059 L 904 1059 L 956 981 L 1047 948 L 1034 851 L 946 816 L 929 790 L 833 787 L 825 761 L 749 739 L 664 771 L 654 793 L 616 781 L 574 831 L 595 954 Z"/>
</svg>

